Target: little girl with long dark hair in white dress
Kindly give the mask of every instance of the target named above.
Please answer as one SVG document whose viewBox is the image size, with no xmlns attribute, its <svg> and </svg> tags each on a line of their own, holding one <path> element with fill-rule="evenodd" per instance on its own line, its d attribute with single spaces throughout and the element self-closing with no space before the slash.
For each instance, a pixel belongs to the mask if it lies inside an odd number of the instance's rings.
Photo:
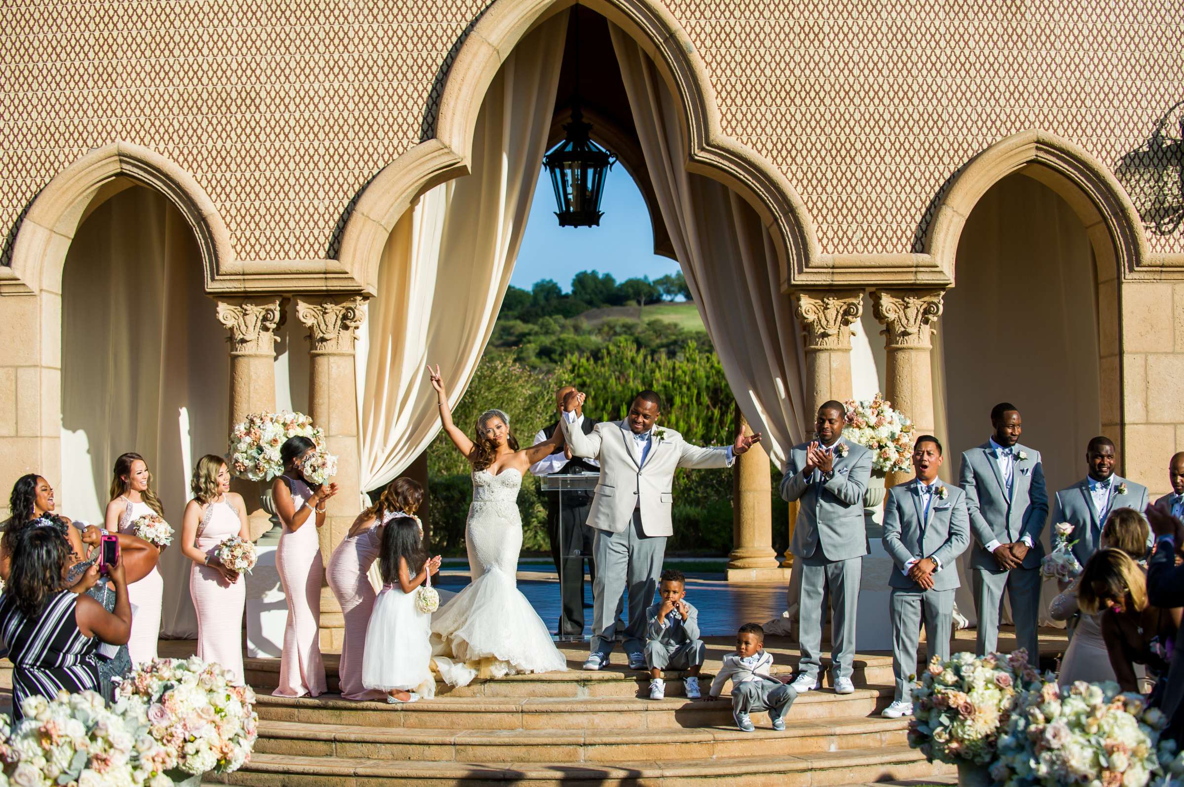
<svg viewBox="0 0 1184 787">
<path fill-rule="evenodd" d="M 422 594 L 429 595 L 429 588 L 420 586 L 439 565 L 439 555 L 427 560 L 419 523 L 410 516 L 387 522 L 379 551 L 382 592 L 374 601 L 362 657 L 362 685 L 385 691 L 387 702 L 436 695 L 429 643 L 432 605 L 426 599 L 420 602 Z"/>
</svg>

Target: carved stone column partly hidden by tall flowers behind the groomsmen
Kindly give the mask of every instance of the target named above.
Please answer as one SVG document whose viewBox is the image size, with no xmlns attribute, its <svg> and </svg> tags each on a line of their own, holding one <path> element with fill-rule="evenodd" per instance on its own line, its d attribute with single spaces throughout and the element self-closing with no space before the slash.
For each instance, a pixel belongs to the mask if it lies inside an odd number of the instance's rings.
<svg viewBox="0 0 1184 787">
<path fill-rule="evenodd" d="M 802 425 L 813 433 L 815 417 L 824 401 L 845 401 L 851 389 L 851 325 L 863 314 L 863 290 L 810 290 L 793 293 L 806 338 L 806 402 Z M 790 541 L 798 507 L 790 504 Z M 783 566 L 793 565 L 785 550 Z"/>
</svg>

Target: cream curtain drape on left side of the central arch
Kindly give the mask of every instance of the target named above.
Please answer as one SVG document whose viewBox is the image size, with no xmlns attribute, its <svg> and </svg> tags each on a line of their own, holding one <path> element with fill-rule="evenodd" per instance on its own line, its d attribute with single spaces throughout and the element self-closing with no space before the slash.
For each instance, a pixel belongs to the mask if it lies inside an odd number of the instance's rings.
<svg viewBox="0 0 1184 787">
<path fill-rule="evenodd" d="M 358 348 L 362 490 L 395 478 L 439 431 L 425 365 L 440 365 L 455 404 L 481 361 L 530 214 L 567 14 L 515 46 L 489 86 L 472 174 L 424 194 L 386 244 Z"/>
</svg>

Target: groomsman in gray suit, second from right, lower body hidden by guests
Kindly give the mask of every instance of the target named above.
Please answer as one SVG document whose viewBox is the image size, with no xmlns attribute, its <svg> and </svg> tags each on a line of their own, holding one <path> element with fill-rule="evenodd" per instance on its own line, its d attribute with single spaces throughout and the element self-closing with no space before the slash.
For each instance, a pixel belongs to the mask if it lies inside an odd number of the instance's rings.
<svg viewBox="0 0 1184 787">
<path fill-rule="evenodd" d="M 1102 525 L 1111 511 L 1133 508 L 1141 514 L 1147 510 L 1147 488 L 1115 476 L 1117 464 L 1114 443 L 1108 437 L 1095 437 L 1086 447 L 1088 475 L 1085 480 L 1062 489 L 1055 496 L 1053 524 L 1068 522 L 1073 525 L 1069 541 L 1077 542 L 1073 544 L 1073 556 L 1082 566 L 1098 551 Z"/>
</svg>

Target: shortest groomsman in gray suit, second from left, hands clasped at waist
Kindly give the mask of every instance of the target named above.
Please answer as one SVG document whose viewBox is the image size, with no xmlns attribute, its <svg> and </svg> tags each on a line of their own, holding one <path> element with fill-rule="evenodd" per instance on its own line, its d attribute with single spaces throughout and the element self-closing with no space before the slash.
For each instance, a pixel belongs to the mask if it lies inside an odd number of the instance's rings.
<svg viewBox="0 0 1184 787">
<path fill-rule="evenodd" d="M 916 645 L 925 611 L 925 650 L 942 660 L 950 658 L 953 633 L 954 593 L 958 555 L 970 546 L 970 515 L 966 494 L 938 479 L 941 444 L 922 434 L 913 444 L 916 477 L 888 490 L 884 503 L 884 549 L 892 556 L 892 588 L 888 612 L 892 617 L 892 670 L 896 695 L 884 708 L 888 718 L 913 715 L 913 682 L 916 672 Z"/>
</svg>

